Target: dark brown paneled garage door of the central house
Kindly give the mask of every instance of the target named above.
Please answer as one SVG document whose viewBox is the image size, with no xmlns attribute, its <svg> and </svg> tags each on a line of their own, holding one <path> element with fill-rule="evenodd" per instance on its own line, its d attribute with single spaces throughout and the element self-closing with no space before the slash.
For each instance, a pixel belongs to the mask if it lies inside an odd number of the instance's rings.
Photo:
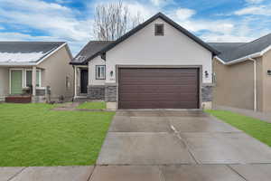
<svg viewBox="0 0 271 181">
<path fill-rule="evenodd" d="M 120 68 L 119 109 L 199 108 L 199 69 Z"/>
</svg>

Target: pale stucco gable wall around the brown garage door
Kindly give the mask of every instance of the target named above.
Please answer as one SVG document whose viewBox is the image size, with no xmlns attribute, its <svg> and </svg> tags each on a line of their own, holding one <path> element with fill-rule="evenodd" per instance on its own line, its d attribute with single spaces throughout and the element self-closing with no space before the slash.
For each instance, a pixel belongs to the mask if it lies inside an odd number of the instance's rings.
<svg viewBox="0 0 271 181">
<path fill-rule="evenodd" d="M 154 24 L 164 24 L 164 36 L 154 35 Z M 211 52 L 162 19 L 108 51 L 106 65 L 106 83 L 116 82 L 116 65 L 201 65 L 203 73 L 212 74 Z M 114 72 L 112 77 L 110 71 Z M 211 83 L 211 76 L 202 76 L 202 82 Z"/>
</svg>

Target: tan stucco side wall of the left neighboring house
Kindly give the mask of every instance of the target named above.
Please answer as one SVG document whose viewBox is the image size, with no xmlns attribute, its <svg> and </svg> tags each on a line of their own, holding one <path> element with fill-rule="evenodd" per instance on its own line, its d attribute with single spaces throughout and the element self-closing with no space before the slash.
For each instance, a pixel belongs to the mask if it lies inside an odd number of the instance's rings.
<svg viewBox="0 0 271 181">
<path fill-rule="evenodd" d="M 38 68 L 43 69 L 42 87 L 51 87 L 52 99 L 60 96 L 71 98 L 73 95 L 73 69 L 69 62 L 70 55 L 64 46 L 38 65 Z M 66 86 L 66 78 L 70 82 L 69 88 Z"/>
</svg>

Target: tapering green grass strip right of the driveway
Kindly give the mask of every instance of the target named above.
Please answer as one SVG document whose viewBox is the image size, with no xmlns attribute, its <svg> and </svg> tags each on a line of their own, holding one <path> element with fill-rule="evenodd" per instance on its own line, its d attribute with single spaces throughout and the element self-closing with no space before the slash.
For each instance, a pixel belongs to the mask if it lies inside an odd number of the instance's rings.
<svg viewBox="0 0 271 181">
<path fill-rule="evenodd" d="M 206 110 L 206 112 L 245 131 L 248 135 L 257 138 L 271 147 L 271 123 L 227 110 Z"/>
</svg>

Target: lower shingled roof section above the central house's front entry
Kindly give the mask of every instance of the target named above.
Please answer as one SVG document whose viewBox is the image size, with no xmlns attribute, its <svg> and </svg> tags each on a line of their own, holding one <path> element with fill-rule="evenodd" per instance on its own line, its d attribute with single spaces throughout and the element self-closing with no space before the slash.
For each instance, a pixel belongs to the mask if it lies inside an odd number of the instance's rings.
<svg viewBox="0 0 271 181">
<path fill-rule="evenodd" d="M 90 41 L 84 48 L 72 59 L 71 64 L 81 64 L 88 59 L 92 59 L 93 55 L 100 52 L 112 41 Z M 94 57 L 93 57 L 94 58 Z"/>
</svg>

